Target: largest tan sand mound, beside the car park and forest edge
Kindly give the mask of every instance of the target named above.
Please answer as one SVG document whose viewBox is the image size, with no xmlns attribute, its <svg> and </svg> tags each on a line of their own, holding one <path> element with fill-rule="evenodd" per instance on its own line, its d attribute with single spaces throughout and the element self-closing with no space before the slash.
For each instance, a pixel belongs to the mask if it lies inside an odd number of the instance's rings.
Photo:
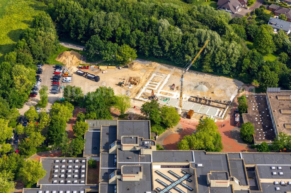
<svg viewBox="0 0 291 193">
<path fill-rule="evenodd" d="M 75 51 L 65 51 L 58 54 L 56 61 L 65 64 L 67 68 L 70 66 L 77 66 L 81 63 L 81 54 Z"/>
</svg>

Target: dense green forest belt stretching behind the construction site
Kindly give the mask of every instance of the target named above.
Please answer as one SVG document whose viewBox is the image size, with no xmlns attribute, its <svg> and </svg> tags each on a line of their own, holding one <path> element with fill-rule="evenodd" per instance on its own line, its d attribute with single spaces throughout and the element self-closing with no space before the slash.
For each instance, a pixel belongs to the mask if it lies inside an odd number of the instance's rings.
<svg viewBox="0 0 291 193">
<path fill-rule="evenodd" d="M 184 10 L 154 0 L 44 0 L 61 39 L 84 44 L 88 59 L 126 63 L 137 56 L 171 61 L 181 67 L 208 39 L 194 69 L 244 83 L 291 89 L 290 37 L 273 33 L 265 7 L 251 18 L 231 19 L 210 6 Z M 246 41 L 253 42 L 252 49 Z M 263 56 L 275 52 L 274 61 Z"/>
</svg>

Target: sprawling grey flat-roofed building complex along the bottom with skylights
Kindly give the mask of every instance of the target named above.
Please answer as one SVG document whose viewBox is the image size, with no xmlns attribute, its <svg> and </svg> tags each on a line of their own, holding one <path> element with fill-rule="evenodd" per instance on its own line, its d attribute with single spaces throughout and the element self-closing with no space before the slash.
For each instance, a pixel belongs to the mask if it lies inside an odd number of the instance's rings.
<svg viewBox="0 0 291 193">
<path fill-rule="evenodd" d="M 81 176 L 82 160 L 87 158 L 42 158 L 46 176 L 38 182 L 39 188 L 24 188 L 23 193 L 271 193 L 291 190 L 290 153 L 157 151 L 156 142 L 150 136 L 149 121 L 116 121 L 116 125 L 109 125 L 106 120 L 98 120 L 92 125 L 94 130 L 96 123 L 100 132 L 100 152 L 96 153 L 100 159 L 98 184 L 88 185 L 86 172 Z M 111 143 L 110 139 L 115 141 Z M 74 171 L 72 175 L 67 172 L 69 167 L 74 170 L 75 166 L 78 168 L 76 177 Z M 64 167 L 62 176 L 60 169 Z M 86 168 L 87 164 L 83 169 L 86 171 Z M 68 180 L 73 183 L 67 184 Z"/>
</svg>

